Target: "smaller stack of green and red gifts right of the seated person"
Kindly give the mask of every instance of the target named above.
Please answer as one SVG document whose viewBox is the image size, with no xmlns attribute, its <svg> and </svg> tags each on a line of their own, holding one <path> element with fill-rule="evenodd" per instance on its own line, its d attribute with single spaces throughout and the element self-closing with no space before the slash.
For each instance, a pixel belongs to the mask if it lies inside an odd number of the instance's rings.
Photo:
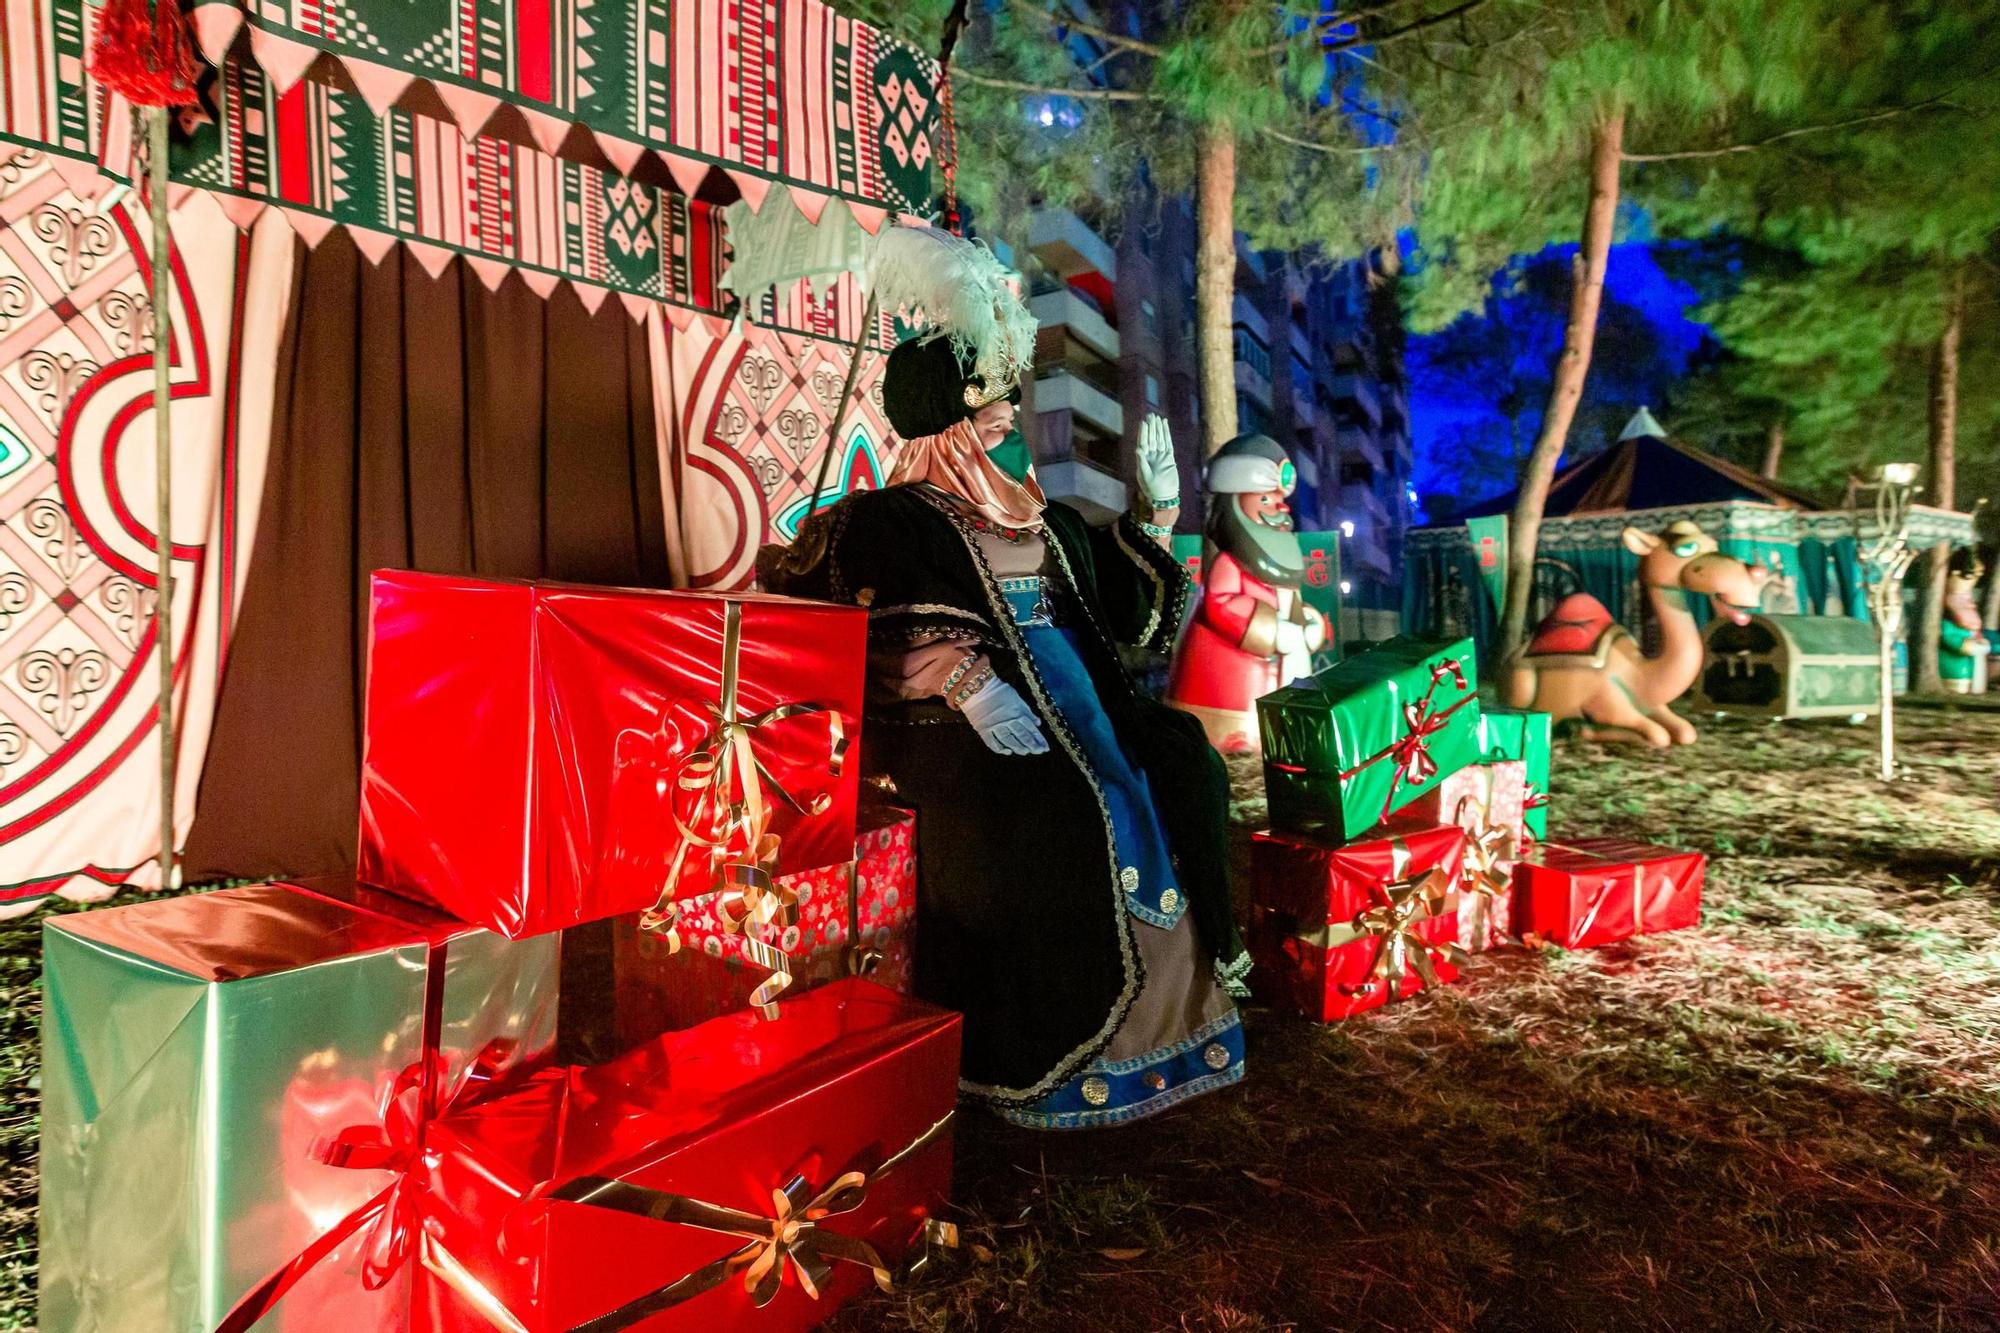
<svg viewBox="0 0 2000 1333">
<path fill-rule="evenodd" d="M 1704 859 L 1548 841 L 1550 719 L 1480 709 L 1472 640 L 1392 638 L 1258 703 L 1252 985 L 1322 1023 L 1450 983 L 1468 953 L 1700 917 Z"/>
</svg>

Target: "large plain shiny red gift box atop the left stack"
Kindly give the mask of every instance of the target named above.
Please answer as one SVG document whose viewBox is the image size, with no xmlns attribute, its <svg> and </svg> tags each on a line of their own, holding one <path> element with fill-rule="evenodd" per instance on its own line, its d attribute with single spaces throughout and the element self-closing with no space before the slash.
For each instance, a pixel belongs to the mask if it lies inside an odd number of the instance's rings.
<svg viewBox="0 0 2000 1333">
<path fill-rule="evenodd" d="M 778 596 L 378 572 L 360 877 L 520 939 L 846 861 L 864 640 Z"/>
</svg>

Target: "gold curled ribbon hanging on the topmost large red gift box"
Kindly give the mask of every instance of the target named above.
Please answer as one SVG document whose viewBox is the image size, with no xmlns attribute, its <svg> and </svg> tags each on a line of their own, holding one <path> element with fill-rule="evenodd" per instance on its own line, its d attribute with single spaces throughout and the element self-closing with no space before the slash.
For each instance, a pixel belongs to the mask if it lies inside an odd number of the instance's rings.
<svg viewBox="0 0 2000 1333">
<path fill-rule="evenodd" d="M 690 819 L 672 811 L 674 831 L 680 845 L 666 869 L 666 883 L 660 899 L 640 913 L 640 929 L 654 931 L 666 939 L 668 955 L 680 953 L 682 905 L 676 899 L 688 855 L 700 851 L 708 857 L 710 875 L 716 889 L 694 895 L 696 903 L 718 903 L 722 929 L 742 937 L 746 961 L 770 971 L 750 995 L 766 1019 L 778 1017 L 778 993 L 792 985 L 792 961 L 772 947 L 770 935 L 798 923 L 798 895 L 778 881 L 780 839 L 770 831 L 774 807 L 766 803 L 768 787 L 780 801 L 796 813 L 812 817 L 832 805 L 826 793 L 810 801 L 794 797 L 784 783 L 756 755 L 752 739 L 764 727 L 784 723 L 794 717 L 826 717 L 826 771 L 840 777 L 846 765 L 848 735 L 840 723 L 840 713 L 826 705 L 784 703 L 752 717 L 740 717 L 736 693 L 740 683 L 742 652 L 742 604 L 722 604 L 722 687 L 720 699 L 708 705 L 710 727 L 702 739 L 674 769 L 670 785 L 674 791 L 694 797 Z"/>
</svg>

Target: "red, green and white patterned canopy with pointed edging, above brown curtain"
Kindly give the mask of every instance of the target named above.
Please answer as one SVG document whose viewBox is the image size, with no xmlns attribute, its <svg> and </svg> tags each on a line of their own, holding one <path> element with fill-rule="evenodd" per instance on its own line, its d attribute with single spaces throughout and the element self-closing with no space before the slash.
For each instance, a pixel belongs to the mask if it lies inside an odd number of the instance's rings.
<svg viewBox="0 0 2000 1333">
<path fill-rule="evenodd" d="M 498 10 L 488 16 L 486 8 Z M 86 200 L 134 178 L 130 108 L 86 72 L 88 0 L 12 0 L 0 140 L 48 152 Z M 930 204 L 936 62 L 822 0 L 492 0 L 480 20 L 410 0 L 202 0 L 214 72 L 174 120 L 176 194 L 248 230 L 278 210 L 380 262 L 464 256 L 498 288 L 570 282 L 596 310 L 660 304 L 676 328 L 736 310 L 722 202 L 876 230 Z M 0 192 L 14 154 L 0 142 Z M 726 182 L 724 182 L 726 178 Z M 782 188 L 778 188 L 782 186 Z M 828 206 L 838 204 L 838 206 Z M 858 282 L 744 296 L 818 338 L 862 328 Z M 880 324 L 880 320 L 878 320 Z"/>
</svg>

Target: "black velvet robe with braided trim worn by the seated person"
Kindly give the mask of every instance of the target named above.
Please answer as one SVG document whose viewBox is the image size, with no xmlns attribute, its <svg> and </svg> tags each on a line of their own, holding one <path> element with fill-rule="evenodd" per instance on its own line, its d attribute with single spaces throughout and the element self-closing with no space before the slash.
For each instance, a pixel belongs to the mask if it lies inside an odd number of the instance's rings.
<svg viewBox="0 0 2000 1333">
<path fill-rule="evenodd" d="M 1248 967 L 1228 895 L 1228 775 L 1200 723 L 1142 697 L 1116 644 L 1168 646 L 1190 580 L 1130 518 L 1092 528 L 1050 504 L 1044 530 L 1074 592 L 1058 608 L 1126 755 L 1146 773 L 1178 889 L 1210 959 Z M 994 755 L 938 699 L 870 697 L 864 773 L 918 813 L 918 993 L 966 1015 L 964 1089 L 1030 1101 L 1082 1069 L 1138 995 L 1142 965 L 1110 815 L 1052 709 L 976 534 L 928 486 L 848 496 L 816 514 L 766 586 L 868 608 L 870 650 L 976 638 L 1042 719 L 1046 755 Z"/>
</svg>

